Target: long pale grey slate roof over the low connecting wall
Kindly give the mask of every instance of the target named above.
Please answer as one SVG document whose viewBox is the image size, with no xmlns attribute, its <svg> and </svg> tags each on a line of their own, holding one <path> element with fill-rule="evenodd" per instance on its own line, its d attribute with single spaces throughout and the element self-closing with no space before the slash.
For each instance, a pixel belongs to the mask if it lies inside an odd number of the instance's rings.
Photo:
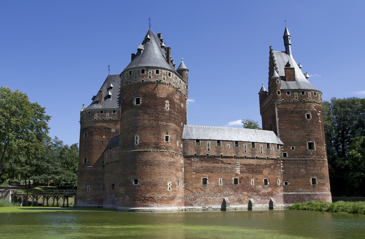
<svg viewBox="0 0 365 239">
<path fill-rule="evenodd" d="M 283 145 L 283 142 L 273 131 L 217 126 L 184 125 L 183 139 L 244 141 Z"/>
</svg>

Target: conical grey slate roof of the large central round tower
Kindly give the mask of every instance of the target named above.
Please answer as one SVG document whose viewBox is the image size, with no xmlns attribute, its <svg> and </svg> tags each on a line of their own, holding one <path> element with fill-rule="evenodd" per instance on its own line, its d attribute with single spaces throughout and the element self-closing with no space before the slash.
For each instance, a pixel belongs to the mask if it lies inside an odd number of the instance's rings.
<svg viewBox="0 0 365 239">
<path fill-rule="evenodd" d="M 161 48 L 160 43 L 160 38 L 151 29 L 148 30 L 142 42 L 144 50 L 137 51 L 134 59 L 128 64 L 126 69 L 134 67 L 161 67 L 178 74 L 172 64 L 167 63 L 165 48 Z"/>
</svg>

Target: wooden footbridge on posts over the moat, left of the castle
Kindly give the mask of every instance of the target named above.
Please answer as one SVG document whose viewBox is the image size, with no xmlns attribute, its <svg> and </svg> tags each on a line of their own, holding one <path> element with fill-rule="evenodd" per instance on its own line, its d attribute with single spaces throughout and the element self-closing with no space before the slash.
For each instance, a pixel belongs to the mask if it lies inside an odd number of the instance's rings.
<svg viewBox="0 0 365 239">
<path fill-rule="evenodd" d="M 15 189 L 10 192 L 11 201 L 17 201 L 20 198 L 20 206 L 28 206 L 28 200 L 31 200 L 30 206 L 59 207 L 59 199 L 62 199 L 62 207 L 68 207 L 69 197 L 75 197 L 77 190 L 37 190 L 37 189 Z M 38 203 L 41 199 L 42 203 Z M 49 204 L 52 200 L 52 205 Z M 55 204 L 56 203 L 56 204 Z"/>
</svg>

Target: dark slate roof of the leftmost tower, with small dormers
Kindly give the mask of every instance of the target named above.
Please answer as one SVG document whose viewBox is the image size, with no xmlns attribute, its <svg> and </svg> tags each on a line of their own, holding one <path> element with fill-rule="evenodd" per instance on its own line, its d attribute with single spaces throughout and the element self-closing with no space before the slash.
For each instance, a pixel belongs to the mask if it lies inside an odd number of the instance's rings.
<svg viewBox="0 0 365 239">
<path fill-rule="evenodd" d="M 112 85 L 112 89 L 110 86 Z M 92 103 L 84 110 L 116 109 L 120 107 L 120 77 L 119 74 L 108 75 L 100 90 L 103 90 L 103 102 L 99 104 L 99 91 L 92 98 Z M 112 95 L 108 99 L 108 95 Z"/>
</svg>

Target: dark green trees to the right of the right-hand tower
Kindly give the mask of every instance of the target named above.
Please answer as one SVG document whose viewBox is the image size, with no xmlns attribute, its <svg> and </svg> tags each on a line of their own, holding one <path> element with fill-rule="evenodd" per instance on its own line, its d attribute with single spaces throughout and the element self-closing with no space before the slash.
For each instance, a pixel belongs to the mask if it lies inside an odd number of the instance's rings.
<svg viewBox="0 0 365 239">
<path fill-rule="evenodd" d="M 365 195 L 365 99 L 324 101 L 323 118 L 332 194 Z"/>
</svg>

